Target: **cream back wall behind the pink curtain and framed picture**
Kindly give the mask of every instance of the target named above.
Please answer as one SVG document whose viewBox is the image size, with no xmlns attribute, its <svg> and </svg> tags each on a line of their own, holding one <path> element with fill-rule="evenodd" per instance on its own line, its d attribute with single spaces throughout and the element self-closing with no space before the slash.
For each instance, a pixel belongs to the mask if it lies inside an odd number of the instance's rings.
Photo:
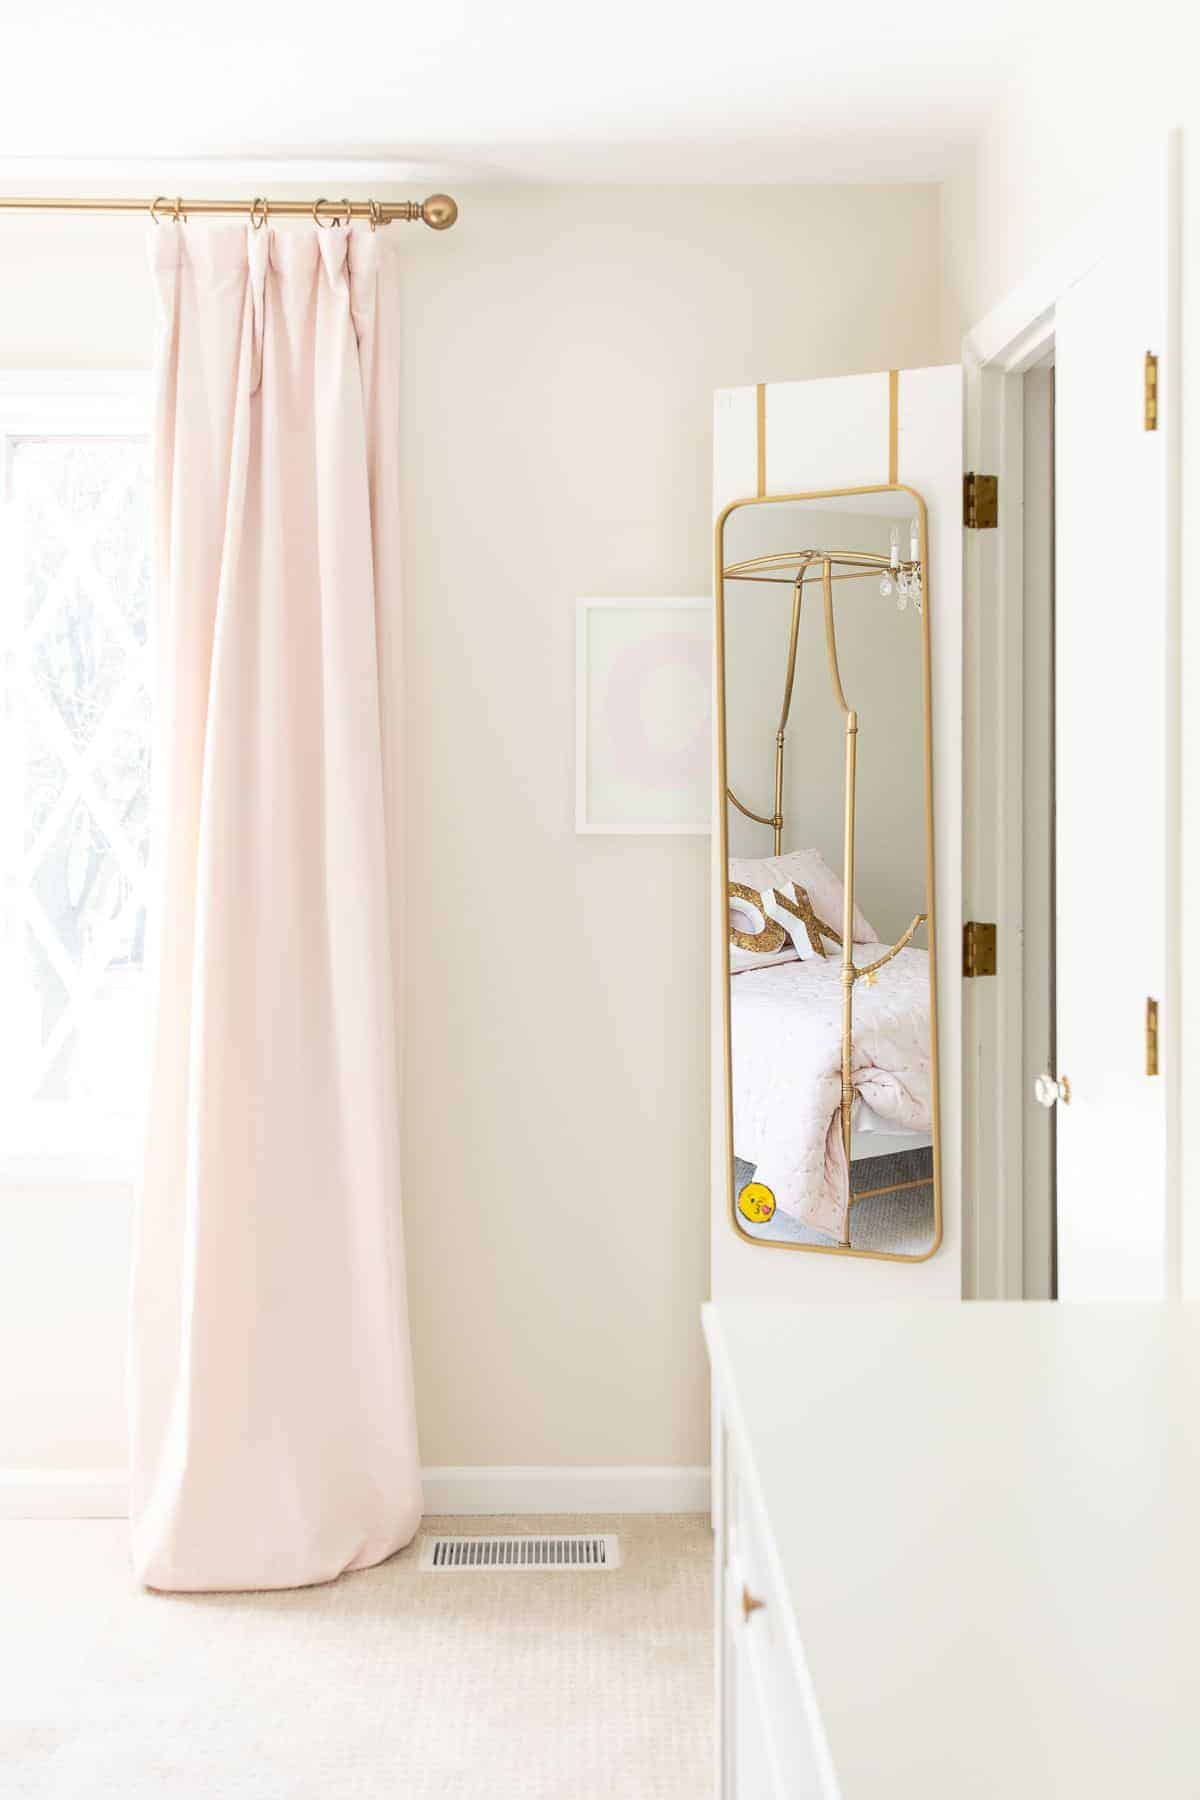
<svg viewBox="0 0 1200 1800">
<path fill-rule="evenodd" d="M 712 389 L 936 360 L 939 198 L 459 198 L 405 239 L 387 697 L 421 1449 L 702 1463 L 707 844 L 574 835 L 574 598 L 707 590 Z M 0 223 L 0 365 L 142 365 L 142 236 Z M 0 1465 L 117 1463 L 128 1197 L 9 1193 L 0 1233 Z"/>
</svg>

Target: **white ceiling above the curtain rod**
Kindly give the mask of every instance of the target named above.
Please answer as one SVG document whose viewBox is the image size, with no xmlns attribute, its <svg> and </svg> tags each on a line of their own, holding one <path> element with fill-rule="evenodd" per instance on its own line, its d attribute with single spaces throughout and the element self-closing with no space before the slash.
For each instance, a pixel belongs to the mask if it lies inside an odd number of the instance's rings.
<svg viewBox="0 0 1200 1800">
<path fill-rule="evenodd" d="M 950 0 L 41 0 L 5 18 L 0 184 L 173 158 L 300 180 L 342 160 L 347 180 L 937 180 L 1004 86 L 1011 18 Z"/>
</svg>

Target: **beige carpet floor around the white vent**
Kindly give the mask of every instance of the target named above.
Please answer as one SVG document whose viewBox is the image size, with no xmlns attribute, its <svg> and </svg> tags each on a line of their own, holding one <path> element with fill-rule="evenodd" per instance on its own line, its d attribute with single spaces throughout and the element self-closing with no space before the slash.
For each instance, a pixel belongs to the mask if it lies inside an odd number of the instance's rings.
<svg viewBox="0 0 1200 1800">
<path fill-rule="evenodd" d="M 432 1519 L 615 1530 L 608 1575 L 423 1575 L 140 1593 L 121 1521 L 0 1523 L 4 1800 L 705 1800 L 702 1517 Z"/>
</svg>

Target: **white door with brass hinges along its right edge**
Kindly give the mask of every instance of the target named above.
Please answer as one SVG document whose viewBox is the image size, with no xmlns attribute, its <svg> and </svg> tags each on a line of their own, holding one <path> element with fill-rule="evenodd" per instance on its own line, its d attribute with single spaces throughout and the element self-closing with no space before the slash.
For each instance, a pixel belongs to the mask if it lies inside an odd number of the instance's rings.
<svg viewBox="0 0 1200 1800">
<path fill-rule="evenodd" d="M 1058 1292 L 1166 1292 L 1168 196 L 1056 308 Z M 1159 358 L 1159 428 L 1144 421 Z M 1061 1085 L 1061 1080 L 1060 1080 Z"/>
</svg>

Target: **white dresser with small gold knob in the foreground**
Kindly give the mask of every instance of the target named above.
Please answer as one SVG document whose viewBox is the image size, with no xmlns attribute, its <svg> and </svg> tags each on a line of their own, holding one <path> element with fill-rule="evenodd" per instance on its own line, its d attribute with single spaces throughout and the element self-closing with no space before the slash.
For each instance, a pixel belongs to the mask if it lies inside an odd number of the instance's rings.
<svg viewBox="0 0 1200 1800">
<path fill-rule="evenodd" d="M 1196 1800 L 1200 1307 L 705 1307 L 720 1800 Z"/>
</svg>

